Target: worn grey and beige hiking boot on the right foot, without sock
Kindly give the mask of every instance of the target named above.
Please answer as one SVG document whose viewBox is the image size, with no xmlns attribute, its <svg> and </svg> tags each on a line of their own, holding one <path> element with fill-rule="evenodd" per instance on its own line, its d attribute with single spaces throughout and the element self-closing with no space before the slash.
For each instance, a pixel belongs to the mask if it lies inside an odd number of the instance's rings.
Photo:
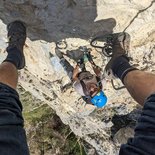
<svg viewBox="0 0 155 155">
<path fill-rule="evenodd" d="M 130 43 L 130 36 L 126 32 L 112 34 L 111 37 L 112 56 L 105 67 L 105 74 L 110 78 L 114 77 L 113 68 L 115 67 L 114 62 L 117 58 L 123 56 L 129 61 L 127 54 Z"/>
</svg>

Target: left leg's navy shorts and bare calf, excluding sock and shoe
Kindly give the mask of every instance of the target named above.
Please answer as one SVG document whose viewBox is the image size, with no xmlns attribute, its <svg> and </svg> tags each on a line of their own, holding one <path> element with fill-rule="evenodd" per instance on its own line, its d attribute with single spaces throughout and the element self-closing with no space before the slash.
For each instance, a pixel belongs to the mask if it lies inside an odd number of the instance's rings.
<svg viewBox="0 0 155 155">
<path fill-rule="evenodd" d="M 0 148 L 5 155 L 29 154 L 17 82 L 17 68 L 6 59 L 0 65 Z"/>
</svg>

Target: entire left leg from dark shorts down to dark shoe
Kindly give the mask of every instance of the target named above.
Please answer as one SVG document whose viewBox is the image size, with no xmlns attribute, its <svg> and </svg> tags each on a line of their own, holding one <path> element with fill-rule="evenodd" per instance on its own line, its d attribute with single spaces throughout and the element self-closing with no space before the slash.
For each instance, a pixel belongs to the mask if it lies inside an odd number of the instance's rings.
<svg viewBox="0 0 155 155">
<path fill-rule="evenodd" d="M 7 58 L 0 65 L 0 154 L 28 155 L 22 105 L 16 92 L 17 69 L 25 66 L 26 30 L 21 22 L 8 26 Z"/>
</svg>

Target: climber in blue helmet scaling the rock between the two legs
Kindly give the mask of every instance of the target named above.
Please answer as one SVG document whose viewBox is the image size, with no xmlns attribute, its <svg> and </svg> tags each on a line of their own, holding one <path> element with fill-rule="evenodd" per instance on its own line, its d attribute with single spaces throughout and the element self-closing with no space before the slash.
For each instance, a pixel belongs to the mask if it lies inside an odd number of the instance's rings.
<svg viewBox="0 0 155 155">
<path fill-rule="evenodd" d="M 107 97 L 102 90 L 103 80 L 101 78 L 101 68 L 94 63 L 90 51 L 86 47 L 83 48 L 85 48 L 84 54 L 78 60 L 75 68 L 64 58 L 63 53 L 58 48 L 55 49 L 55 53 L 73 82 L 74 89 L 82 96 L 83 100 L 87 104 L 102 108 L 107 102 Z M 95 74 L 86 71 L 85 62 L 87 60 L 90 62 Z"/>
</svg>

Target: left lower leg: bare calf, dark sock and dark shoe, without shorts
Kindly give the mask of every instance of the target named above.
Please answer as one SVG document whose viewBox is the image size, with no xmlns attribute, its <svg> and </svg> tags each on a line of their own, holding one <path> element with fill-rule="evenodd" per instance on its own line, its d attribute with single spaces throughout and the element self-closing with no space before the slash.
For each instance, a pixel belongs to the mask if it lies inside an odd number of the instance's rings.
<svg viewBox="0 0 155 155">
<path fill-rule="evenodd" d="M 23 47 L 26 40 L 26 28 L 20 21 L 15 21 L 7 26 L 9 44 L 6 49 L 8 55 L 0 65 L 0 82 L 14 89 L 17 87 L 17 69 L 25 66 Z"/>
</svg>

